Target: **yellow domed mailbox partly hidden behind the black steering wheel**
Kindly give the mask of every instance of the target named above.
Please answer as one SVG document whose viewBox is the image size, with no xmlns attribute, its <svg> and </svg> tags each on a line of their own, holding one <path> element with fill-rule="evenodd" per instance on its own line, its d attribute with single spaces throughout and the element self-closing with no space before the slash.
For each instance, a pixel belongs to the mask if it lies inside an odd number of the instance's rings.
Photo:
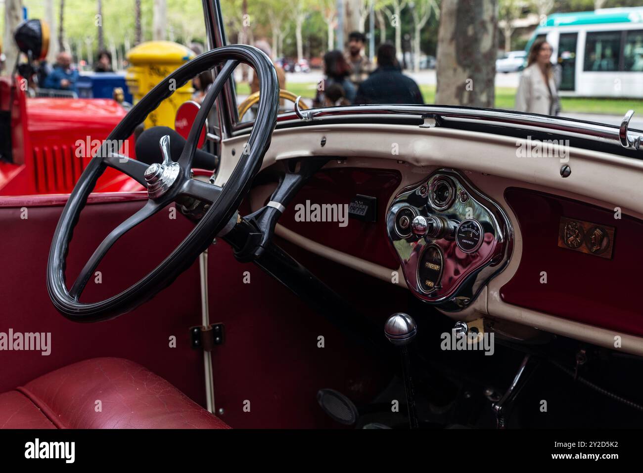
<svg viewBox="0 0 643 473">
<path fill-rule="evenodd" d="M 152 90 L 154 85 L 194 56 L 191 49 L 170 41 L 143 42 L 130 49 L 127 53 L 130 66 L 127 69 L 125 81 L 134 98 L 134 104 Z M 162 125 L 173 129 L 176 111 L 181 103 L 192 98 L 192 92 L 190 82 L 179 87 L 172 96 L 163 100 L 157 109 L 147 116 L 145 128 Z"/>
</svg>

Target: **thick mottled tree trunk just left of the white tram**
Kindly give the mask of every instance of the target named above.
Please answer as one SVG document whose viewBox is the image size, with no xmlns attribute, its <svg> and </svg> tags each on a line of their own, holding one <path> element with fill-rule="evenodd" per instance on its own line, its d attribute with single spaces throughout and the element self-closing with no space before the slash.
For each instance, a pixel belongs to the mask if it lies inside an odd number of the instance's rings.
<svg viewBox="0 0 643 473">
<path fill-rule="evenodd" d="M 496 0 L 442 3 L 435 103 L 494 107 L 496 11 Z"/>
</svg>

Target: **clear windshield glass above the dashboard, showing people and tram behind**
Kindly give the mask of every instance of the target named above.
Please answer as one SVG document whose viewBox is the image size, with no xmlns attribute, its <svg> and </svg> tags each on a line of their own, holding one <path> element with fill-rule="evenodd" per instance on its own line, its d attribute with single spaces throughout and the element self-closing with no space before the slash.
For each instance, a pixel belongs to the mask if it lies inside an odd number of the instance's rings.
<svg viewBox="0 0 643 473">
<path fill-rule="evenodd" d="M 643 110 L 643 8 L 595 3 L 221 0 L 228 42 L 264 50 L 307 107 L 465 105 L 616 125 Z M 258 90 L 248 67 L 235 83 L 239 104 Z"/>
</svg>

